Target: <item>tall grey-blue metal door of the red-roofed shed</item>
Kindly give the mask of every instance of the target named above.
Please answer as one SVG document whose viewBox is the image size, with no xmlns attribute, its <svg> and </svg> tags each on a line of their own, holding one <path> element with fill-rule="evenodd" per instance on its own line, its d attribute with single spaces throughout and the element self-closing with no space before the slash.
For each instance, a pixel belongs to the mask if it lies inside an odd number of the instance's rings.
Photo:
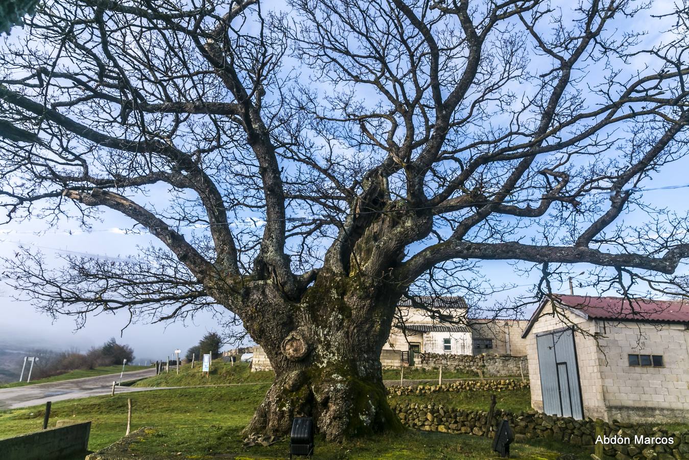
<svg viewBox="0 0 689 460">
<path fill-rule="evenodd" d="M 571 329 L 536 337 L 543 411 L 560 417 L 584 418 L 579 366 Z"/>
</svg>

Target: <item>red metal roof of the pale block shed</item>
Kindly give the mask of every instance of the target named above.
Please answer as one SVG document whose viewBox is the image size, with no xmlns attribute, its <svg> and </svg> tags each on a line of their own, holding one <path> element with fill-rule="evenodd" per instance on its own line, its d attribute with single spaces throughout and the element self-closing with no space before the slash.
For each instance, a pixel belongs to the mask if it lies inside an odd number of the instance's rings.
<svg viewBox="0 0 689 460">
<path fill-rule="evenodd" d="M 622 297 L 556 296 L 564 305 L 593 319 L 689 323 L 689 301 L 624 299 Z"/>
</svg>

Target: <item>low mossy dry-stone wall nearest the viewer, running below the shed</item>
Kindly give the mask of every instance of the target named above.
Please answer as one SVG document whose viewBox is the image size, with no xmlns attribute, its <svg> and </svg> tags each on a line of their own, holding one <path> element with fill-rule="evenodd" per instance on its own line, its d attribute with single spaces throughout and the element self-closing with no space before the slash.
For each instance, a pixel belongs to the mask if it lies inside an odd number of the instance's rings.
<svg viewBox="0 0 689 460">
<path fill-rule="evenodd" d="M 486 430 L 493 435 L 498 424 L 507 420 L 515 432 L 515 442 L 526 439 L 556 439 L 582 450 L 593 452 L 596 426 L 592 419 L 575 420 L 570 417 L 553 417 L 535 411 L 512 413 L 495 410 L 493 423 L 488 424 L 488 413 L 480 410 L 446 408 L 435 404 L 397 403 L 392 406 L 405 426 L 425 431 L 484 436 Z M 675 460 L 689 459 L 689 432 L 670 433 L 659 428 L 644 428 L 628 423 L 602 423 L 606 437 L 621 436 L 630 442 L 609 443 L 604 446 L 601 460 Z M 635 435 L 642 437 L 668 437 L 671 444 L 644 444 L 635 442 Z"/>
</svg>

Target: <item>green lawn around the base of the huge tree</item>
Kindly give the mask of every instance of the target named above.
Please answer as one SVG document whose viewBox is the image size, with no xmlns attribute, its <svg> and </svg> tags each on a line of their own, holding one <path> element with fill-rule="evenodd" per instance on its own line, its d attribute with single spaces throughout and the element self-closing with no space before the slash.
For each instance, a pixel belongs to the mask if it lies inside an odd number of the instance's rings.
<svg viewBox="0 0 689 460">
<path fill-rule="evenodd" d="M 52 405 L 50 424 L 58 419 L 91 420 L 89 447 L 97 450 L 123 436 L 127 398 L 132 398 L 132 428 L 147 426 L 152 430 L 140 441 L 130 444 L 126 452 L 121 452 L 123 457 L 285 458 L 289 446 L 286 440 L 269 447 L 242 446 L 240 431 L 263 399 L 268 386 L 182 388 L 58 401 Z M 480 406 L 478 399 L 473 404 L 477 408 Z M 487 407 L 486 404 L 480 408 Z M 42 407 L 0 412 L 0 437 L 39 430 L 42 421 Z M 537 441 L 528 445 L 517 444 L 512 452 L 513 456 L 524 460 L 556 459 L 564 452 L 579 454 L 576 449 L 562 444 Z M 342 445 L 325 443 L 317 437 L 313 458 L 478 460 L 498 457 L 491 452 L 491 439 L 488 438 L 407 430 L 404 434 L 358 439 Z M 586 456 L 582 454 L 579 458 Z"/>
</svg>

